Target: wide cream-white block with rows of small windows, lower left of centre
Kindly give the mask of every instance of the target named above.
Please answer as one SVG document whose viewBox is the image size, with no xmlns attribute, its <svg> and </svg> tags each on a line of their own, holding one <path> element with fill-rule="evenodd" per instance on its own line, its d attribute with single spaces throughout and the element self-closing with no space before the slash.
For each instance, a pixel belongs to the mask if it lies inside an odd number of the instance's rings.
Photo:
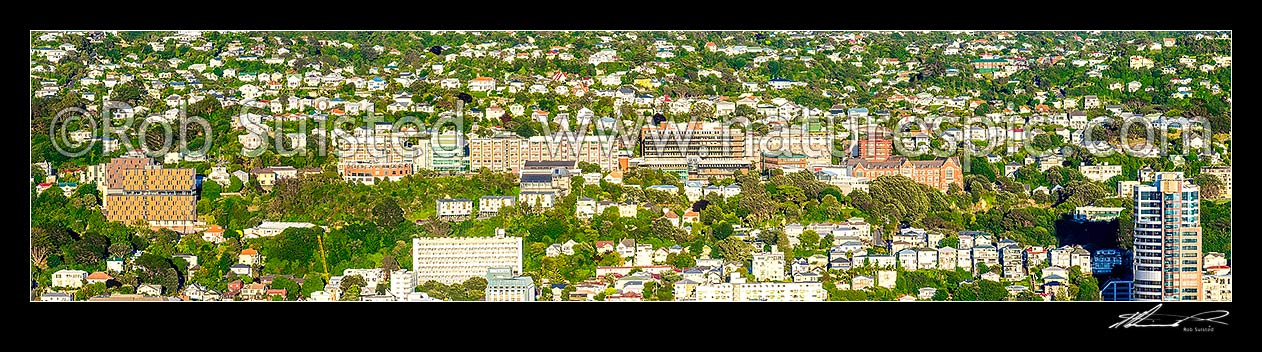
<svg viewBox="0 0 1262 352">
<path fill-rule="evenodd" d="M 521 237 L 418 237 L 411 240 L 416 281 L 463 283 L 491 267 L 521 273 Z"/>
</svg>

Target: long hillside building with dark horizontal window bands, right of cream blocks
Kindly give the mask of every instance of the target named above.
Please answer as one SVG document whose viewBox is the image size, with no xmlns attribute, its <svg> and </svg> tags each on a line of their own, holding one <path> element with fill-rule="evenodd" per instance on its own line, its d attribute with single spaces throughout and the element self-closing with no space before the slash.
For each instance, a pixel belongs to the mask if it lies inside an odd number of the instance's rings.
<svg viewBox="0 0 1262 352">
<path fill-rule="evenodd" d="M 639 167 L 689 179 L 731 177 L 755 165 L 746 154 L 750 135 L 717 122 L 661 122 L 640 130 Z"/>
</svg>

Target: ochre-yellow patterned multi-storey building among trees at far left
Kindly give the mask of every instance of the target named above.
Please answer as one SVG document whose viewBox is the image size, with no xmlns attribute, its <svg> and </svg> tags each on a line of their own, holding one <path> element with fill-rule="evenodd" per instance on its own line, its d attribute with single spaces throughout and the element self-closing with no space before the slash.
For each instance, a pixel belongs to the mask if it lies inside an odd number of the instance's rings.
<svg viewBox="0 0 1262 352">
<path fill-rule="evenodd" d="M 180 233 L 196 231 L 197 184 L 193 169 L 140 169 L 110 172 L 120 179 L 105 194 L 105 218 L 125 223 L 146 222 L 153 228 Z"/>
</svg>

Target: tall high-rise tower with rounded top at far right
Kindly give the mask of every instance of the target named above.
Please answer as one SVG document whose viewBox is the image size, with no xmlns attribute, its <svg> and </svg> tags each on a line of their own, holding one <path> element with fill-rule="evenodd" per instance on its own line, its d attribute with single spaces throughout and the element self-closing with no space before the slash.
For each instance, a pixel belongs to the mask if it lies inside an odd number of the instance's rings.
<svg viewBox="0 0 1262 352">
<path fill-rule="evenodd" d="M 1135 187 L 1135 300 L 1201 300 L 1200 189 L 1182 173 Z"/>
</svg>

